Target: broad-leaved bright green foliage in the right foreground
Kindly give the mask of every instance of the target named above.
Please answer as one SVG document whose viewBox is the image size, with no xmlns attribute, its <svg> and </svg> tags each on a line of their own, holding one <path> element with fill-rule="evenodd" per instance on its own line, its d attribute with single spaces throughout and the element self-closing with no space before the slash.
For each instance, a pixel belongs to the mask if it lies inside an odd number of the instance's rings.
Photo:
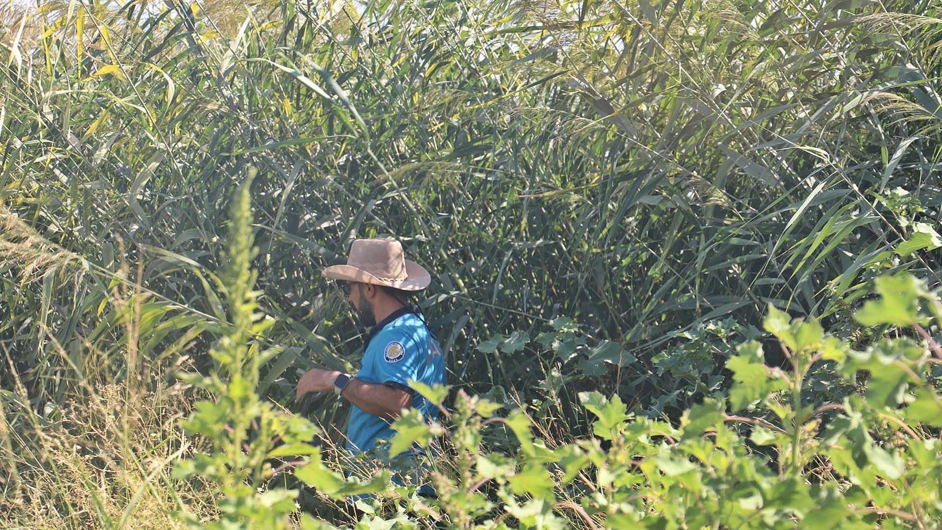
<svg viewBox="0 0 942 530">
<path fill-rule="evenodd" d="M 902 295 L 885 291 L 875 302 L 899 303 L 894 296 Z M 438 476 L 441 496 L 429 502 L 447 515 L 448 528 L 490 527 L 497 518 L 506 528 L 932 525 L 942 516 L 942 446 L 929 429 L 942 399 L 925 379 L 935 360 L 927 345 L 881 340 L 860 352 L 820 323 L 791 320 L 774 308 L 764 325 L 781 340 L 790 366 L 766 364 L 755 341 L 741 343 L 727 363 L 732 410 L 752 406 L 752 416 L 732 415 L 724 400 L 707 399 L 687 410 L 676 429 L 628 413 L 617 395 L 582 392 L 597 438 L 550 446 L 533 435 L 544 427 L 522 410 L 483 421 L 476 412 L 481 400 L 460 392 L 447 426 L 458 470 Z M 821 363 L 831 363 L 833 377 L 869 373 L 866 396 L 807 406 L 806 374 Z M 500 424 L 519 440 L 515 455 L 481 443 L 481 427 Z M 428 432 L 417 425 L 413 418 L 394 426 L 412 439 L 416 428 Z M 480 495 L 485 485 L 489 497 Z"/>
</svg>

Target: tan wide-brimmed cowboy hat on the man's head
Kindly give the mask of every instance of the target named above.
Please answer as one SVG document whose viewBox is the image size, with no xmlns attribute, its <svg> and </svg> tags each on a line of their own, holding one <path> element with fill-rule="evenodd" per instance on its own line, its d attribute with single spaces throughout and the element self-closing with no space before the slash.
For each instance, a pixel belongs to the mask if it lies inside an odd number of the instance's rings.
<svg viewBox="0 0 942 530">
<path fill-rule="evenodd" d="M 346 265 L 333 265 L 320 274 L 333 280 L 401 290 L 423 290 L 431 283 L 429 272 L 406 259 L 402 244 L 392 238 L 355 240 Z"/>
</svg>

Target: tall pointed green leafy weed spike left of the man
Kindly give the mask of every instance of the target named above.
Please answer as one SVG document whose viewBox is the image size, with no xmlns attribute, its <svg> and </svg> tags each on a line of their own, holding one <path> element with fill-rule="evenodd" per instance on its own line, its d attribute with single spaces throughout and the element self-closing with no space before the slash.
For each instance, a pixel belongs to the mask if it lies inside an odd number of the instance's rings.
<svg viewBox="0 0 942 530">
<path fill-rule="evenodd" d="M 254 172 L 239 186 L 230 207 L 228 266 L 222 276 L 230 323 L 210 351 L 219 363 L 219 370 L 208 378 L 180 374 L 215 396 L 214 401 L 197 402 L 196 410 L 183 422 L 187 434 L 208 441 L 211 450 L 177 462 L 173 470 L 178 480 L 202 477 L 219 489 L 221 517 L 208 524 L 209 528 L 288 527 L 287 516 L 296 510 L 298 491 L 263 490 L 273 474 L 269 461 L 273 457 L 309 455 L 311 462 L 297 472 L 301 480 L 311 483 L 313 477 L 318 479 L 319 488 L 331 493 L 347 491 L 342 489 L 346 484 L 343 478 L 323 472 L 317 449 L 308 443 L 317 434 L 315 425 L 273 410 L 257 392 L 260 359 L 266 353 L 252 338 L 262 335 L 270 321 L 255 312 L 256 293 L 252 290 L 253 176 Z M 276 446 L 276 439 L 284 443 Z M 203 527 L 195 515 L 186 511 L 179 515 L 191 526 Z"/>
</svg>

